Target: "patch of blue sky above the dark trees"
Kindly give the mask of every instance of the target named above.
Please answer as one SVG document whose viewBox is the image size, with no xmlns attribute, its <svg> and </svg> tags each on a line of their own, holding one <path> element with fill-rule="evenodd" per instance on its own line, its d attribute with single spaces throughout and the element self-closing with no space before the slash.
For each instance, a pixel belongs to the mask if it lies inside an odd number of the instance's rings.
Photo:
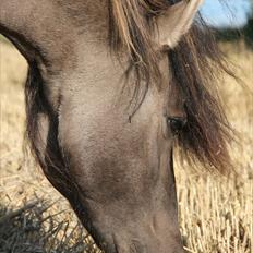
<svg viewBox="0 0 253 253">
<path fill-rule="evenodd" d="M 251 0 L 226 0 L 221 4 L 219 0 L 205 0 L 202 14 L 214 26 L 241 26 L 246 21 Z"/>
</svg>

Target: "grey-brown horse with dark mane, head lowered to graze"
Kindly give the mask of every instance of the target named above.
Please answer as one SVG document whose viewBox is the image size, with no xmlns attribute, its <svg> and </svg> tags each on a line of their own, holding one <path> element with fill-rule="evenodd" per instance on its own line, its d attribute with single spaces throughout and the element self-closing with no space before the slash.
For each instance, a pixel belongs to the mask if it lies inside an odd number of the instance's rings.
<svg viewBox="0 0 253 253">
<path fill-rule="evenodd" d="M 229 72 L 202 0 L 1 0 L 28 62 L 26 135 L 50 183 L 109 253 L 184 252 L 176 146 L 226 173 Z"/>
</svg>

